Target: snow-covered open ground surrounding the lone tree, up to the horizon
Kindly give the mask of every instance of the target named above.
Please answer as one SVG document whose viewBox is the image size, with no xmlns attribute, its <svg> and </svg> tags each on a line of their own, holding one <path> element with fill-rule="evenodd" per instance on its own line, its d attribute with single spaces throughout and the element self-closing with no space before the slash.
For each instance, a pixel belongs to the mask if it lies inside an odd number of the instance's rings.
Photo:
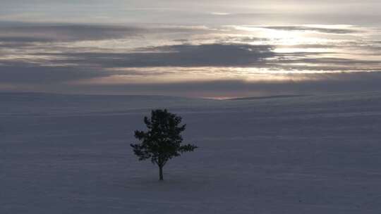
<svg viewBox="0 0 381 214">
<path fill-rule="evenodd" d="M 168 108 L 200 149 L 130 143 Z M 381 93 L 214 101 L 0 94 L 0 213 L 381 213 Z"/>
</svg>

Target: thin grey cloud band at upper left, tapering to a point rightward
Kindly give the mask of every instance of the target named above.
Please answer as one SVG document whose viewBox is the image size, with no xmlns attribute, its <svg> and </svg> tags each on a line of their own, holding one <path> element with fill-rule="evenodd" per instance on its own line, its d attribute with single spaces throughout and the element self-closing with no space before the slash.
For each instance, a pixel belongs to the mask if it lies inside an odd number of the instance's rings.
<svg viewBox="0 0 381 214">
<path fill-rule="evenodd" d="M 215 31 L 202 26 L 1 23 L 0 42 L 76 42 L 144 37 L 157 33 Z"/>
</svg>

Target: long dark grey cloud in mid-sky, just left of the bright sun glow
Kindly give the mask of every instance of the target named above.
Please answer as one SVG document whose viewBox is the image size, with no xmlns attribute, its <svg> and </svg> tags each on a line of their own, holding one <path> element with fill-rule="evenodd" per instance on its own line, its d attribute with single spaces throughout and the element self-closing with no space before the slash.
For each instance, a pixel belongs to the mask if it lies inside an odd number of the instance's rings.
<svg viewBox="0 0 381 214">
<path fill-rule="evenodd" d="M 42 53 L 71 57 L 53 63 L 92 64 L 102 68 L 120 67 L 200 67 L 258 65 L 274 56 L 270 45 L 182 44 L 137 49 L 134 53 Z"/>
</svg>

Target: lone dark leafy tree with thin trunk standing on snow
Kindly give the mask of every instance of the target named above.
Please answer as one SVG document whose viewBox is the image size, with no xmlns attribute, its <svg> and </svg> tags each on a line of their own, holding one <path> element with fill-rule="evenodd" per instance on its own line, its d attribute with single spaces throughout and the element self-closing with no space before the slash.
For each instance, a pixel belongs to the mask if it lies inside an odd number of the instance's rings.
<svg viewBox="0 0 381 214">
<path fill-rule="evenodd" d="M 148 131 L 135 131 L 135 138 L 140 144 L 131 144 L 133 152 L 139 160 L 151 159 L 159 167 L 159 180 L 163 180 L 163 167 L 171 158 L 181 153 L 193 151 L 197 146 L 186 144 L 181 146 L 181 132 L 186 125 L 180 125 L 181 117 L 169 113 L 167 109 L 157 109 L 151 112 L 151 118 L 144 118 Z"/>
</svg>

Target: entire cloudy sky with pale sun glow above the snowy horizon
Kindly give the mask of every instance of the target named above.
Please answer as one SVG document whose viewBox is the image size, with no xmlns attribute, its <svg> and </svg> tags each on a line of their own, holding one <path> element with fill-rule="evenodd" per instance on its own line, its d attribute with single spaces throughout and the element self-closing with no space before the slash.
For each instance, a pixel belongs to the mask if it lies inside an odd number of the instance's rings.
<svg viewBox="0 0 381 214">
<path fill-rule="evenodd" d="M 381 89 L 381 1 L 4 1 L 0 92 Z"/>
</svg>

